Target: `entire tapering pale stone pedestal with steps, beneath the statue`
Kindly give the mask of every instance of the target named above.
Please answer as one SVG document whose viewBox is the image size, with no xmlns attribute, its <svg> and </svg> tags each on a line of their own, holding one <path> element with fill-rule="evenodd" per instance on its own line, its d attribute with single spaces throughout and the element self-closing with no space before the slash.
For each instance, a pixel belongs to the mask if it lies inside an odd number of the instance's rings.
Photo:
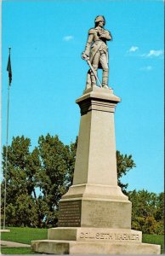
<svg viewBox="0 0 165 256">
<path fill-rule="evenodd" d="M 128 196 L 117 186 L 114 113 L 120 98 L 94 86 L 77 99 L 81 109 L 73 184 L 60 200 L 58 228 L 31 241 L 38 253 L 159 254 L 131 230 Z"/>
</svg>

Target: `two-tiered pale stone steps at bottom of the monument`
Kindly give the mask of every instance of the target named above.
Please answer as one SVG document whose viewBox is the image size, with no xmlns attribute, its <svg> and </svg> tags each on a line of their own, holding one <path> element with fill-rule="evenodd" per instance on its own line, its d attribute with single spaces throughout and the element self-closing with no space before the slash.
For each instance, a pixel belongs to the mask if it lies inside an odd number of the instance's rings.
<svg viewBox="0 0 165 256">
<path fill-rule="evenodd" d="M 48 230 L 48 240 L 31 241 L 31 249 L 53 254 L 160 254 L 159 245 L 141 239 L 136 230 L 55 228 Z"/>
</svg>

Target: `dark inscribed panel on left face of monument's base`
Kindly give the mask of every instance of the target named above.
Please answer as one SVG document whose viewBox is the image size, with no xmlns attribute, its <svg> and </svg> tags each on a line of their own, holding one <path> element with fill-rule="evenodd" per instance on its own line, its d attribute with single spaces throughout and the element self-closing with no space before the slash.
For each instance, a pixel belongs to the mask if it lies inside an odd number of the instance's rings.
<svg viewBox="0 0 165 256">
<path fill-rule="evenodd" d="M 79 227 L 81 224 L 81 201 L 60 202 L 59 227 Z"/>
</svg>

